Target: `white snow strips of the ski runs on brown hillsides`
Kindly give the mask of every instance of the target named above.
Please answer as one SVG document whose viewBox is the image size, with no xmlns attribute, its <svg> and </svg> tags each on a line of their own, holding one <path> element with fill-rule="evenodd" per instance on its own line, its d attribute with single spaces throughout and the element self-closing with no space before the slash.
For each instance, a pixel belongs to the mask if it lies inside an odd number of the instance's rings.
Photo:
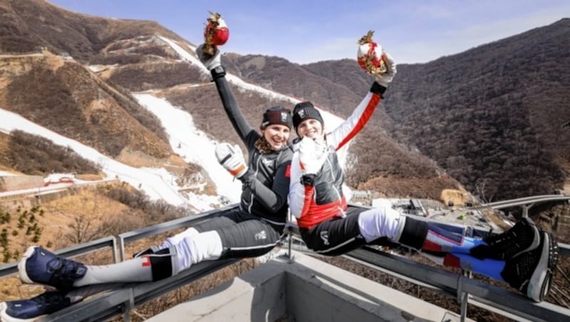
<svg viewBox="0 0 570 322">
<path fill-rule="evenodd" d="M 199 62 L 194 53 L 185 51 L 174 41 L 161 37 L 163 41 L 172 46 L 179 55 L 189 63 L 198 66 L 204 75 L 209 76 L 209 71 Z M 190 50 L 195 51 L 195 47 L 188 45 Z M 291 102 L 290 108 L 300 100 L 291 98 L 271 90 L 266 90 L 257 85 L 244 82 L 236 76 L 227 75 L 229 82 L 237 85 L 241 90 L 249 90 L 257 92 L 264 97 L 276 98 Z M 83 145 L 76 140 L 59 135 L 51 130 L 43 128 L 40 125 L 32 123 L 20 115 L 11 113 L 8 110 L 0 108 L 0 131 L 11 133 L 13 130 L 22 130 L 26 133 L 38 135 L 51 140 L 57 145 L 70 147 L 73 151 L 81 155 L 86 160 L 95 162 L 102 167 L 103 172 L 108 178 L 118 178 L 121 181 L 128 182 L 133 187 L 144 191 L 150 199 L 163 199 L 165 202 L 177 206 L 191 205 L 201 211 L 207 211 L 218 206 L 222 199 L 228 199 L 230 202 L 239 202 L 241 194 L 241 184 L 239 181 L 229 175 L 224 168 L 218 164 L 214 156 L 214 148 L 217 141 L 210 138 L 207 133 L 197 130 L 192 115 L 179 108 L 176 108 L 163 98 L 157 98 L 151 93 L 134 94 L 138 102 L 147 108 L 151 113 L 155 114 L 162 123 L 167 134 L 170 137 L 170 146 L 172 150 L 180 155 L 186 162 L 192 162 L 200 165 L 208 173 L 209 177 L 216 185 L 217 196 L 207 196 L 205 194 L 180 193 L 179 187 L 172 173 L 167 172 L 164 168 L 135 168 L 123 163 L 117 162 L 112 158 L 103 155 L 94 150 L 92 147 Z M 325 128 L 332 129 L 339 125 L 343 120 L 336 115 L 320 109 L 325 121 Z M 346 160 L 346 147 L 340 151 L 340 159 L 342 164 Z M 4 175 L 8 175 L 7 173 Z M 348 192 L 348 189 L 347 189 Z M 222 198 L 224 197 L 224 198 Z"/>
</svg>

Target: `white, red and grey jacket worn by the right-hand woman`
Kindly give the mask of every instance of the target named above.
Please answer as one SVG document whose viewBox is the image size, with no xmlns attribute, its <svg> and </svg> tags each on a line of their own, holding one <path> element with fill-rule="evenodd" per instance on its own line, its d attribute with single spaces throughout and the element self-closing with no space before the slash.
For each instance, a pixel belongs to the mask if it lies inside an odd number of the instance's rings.
<svg viewBox="0 0 570 322">
<path fill-rule="evenodd" d="M 312 186 L 301 183 L 303 172 L 299 162 L 299 149 L 298 146 L 293 147 L 289 208 L 291 214 L 296 217 L 299 228 L 311 228 L 326 219 L 344 217 L 348 204 L 342 190 L 344 176 L 336 150 L 352 140 L 364 128 L 382 100 L 385 90 L 384 86 L 374 82 L 370 93 L 356 107 L 352 115 L 331 133 L 325 135 L 328 157 L 318 171 Z"/>
</svg>

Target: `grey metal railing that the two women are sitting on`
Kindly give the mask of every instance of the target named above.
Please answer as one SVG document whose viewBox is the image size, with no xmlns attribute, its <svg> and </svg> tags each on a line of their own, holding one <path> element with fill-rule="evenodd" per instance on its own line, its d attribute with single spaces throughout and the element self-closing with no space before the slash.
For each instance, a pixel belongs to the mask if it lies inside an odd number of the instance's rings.
<svg viewBox="0 0 570 322">
<path fill-rule="evenodd" d="M 172 229 L 188 227 L 204 219 L 216 217 L 227 209 L 232 209 L 236 205 L 217 209 L 210 212 L 204 212 L 197 216 L 175 219 L 170 222 L 164 222 L 150 227 L 126 232 L 118 235 L 118 237 L 105 237 L 85 244 L 79 244 L 60 249 L 56 254 L 65 257 L 74 257 L 83 254 L 89 254 L 93 251 L 109 249 L 113 250 L 113 261 L 125 259 L 125 244 L 132 241 L 151 237 L 156 234 L 168 232 Z M 458 224 L 439 224 L 451 229 L 459 234 L 468 236 L 484 236 L 488 233 L 483 229 L 473 229 L 471 227 L 462 227 Z M 294 228 L 294 227 L 293 227 Z M 289 234 L 283 241 L 284 246 L 289 246 L 289 256 L 291 259 L 291 249 L 306 251 L 311 253 L 309 249 L 304 247 L 298 235 Z M 559 244 L 561 256 L 570 256 L 570 245 Z M 312 254 L 312 253 L 311 253 Z M 482 281 L 470 279 L 468 274 L 455 274 L 446 269 L 434 266 L 427 266 L 407 259 L 403 256 L 379 251 L 371 246 L 364 246 L 356 251 L 343 255 L 347 259 L 356 261 L 383 271 L 400 279 L 410 281 L 420 286 L 439 291 L 442 294 L 456 298 L 461 304 L 462 320 L 467 316 L 468 304 L 480 306 L 489 311 L 499 313 L 503 316 L 514 319 L 528 319 L 532 321 L 569 321 L 570 310 L 552 303 L 534 303 L 528 298 L 520 294 L 515 294 L 507 289 L 499 286 L 492 286 Z M 291 259 L 294 260 L 294 259 Z M 222 269 L 229 264 L 236 262 L 237 259 L 226 261 L 204 261 L 187 271 L 183 271 L 176 276 L 172 276 L 162 281 L 140 283 L 140 284 L 115 284 L 108 291 L 104 291 L 95 296 L 87 298 L 85 301 L 73 304 L 68 308 L 51 314 L 41 321 L 101 321 L 113 316 L 123 315 L 124 321 L 130 321 L 129 312 L 136 306 L 150 301 L 162 294 L 180 288 L 202 276 L 211 274 L 214 271 Z M 17 264 L 11 263 L 0 266 L 0 277 L 15 274 Z"/>
</svg>

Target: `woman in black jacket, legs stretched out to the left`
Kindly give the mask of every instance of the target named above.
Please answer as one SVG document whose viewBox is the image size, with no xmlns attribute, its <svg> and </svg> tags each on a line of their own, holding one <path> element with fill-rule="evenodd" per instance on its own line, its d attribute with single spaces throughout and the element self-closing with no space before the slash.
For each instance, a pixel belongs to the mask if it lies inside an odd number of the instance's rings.
<svg viewBox="0 0 570 322">
<path fill-rule="evenodd" d="M 157 281 L 204 260 L 261 256 L 279 243 L 286 223 L 293 156 L 288 145 L 291 113 L 281 106 L 267 109 L 258 133 L 247 123 L 229 88 L 219 51 L 209 57 L 203 56 L 201 48 L 197 53 L 211 72 L 229 120 L 249 154 L 249 162 L 245 162 L 239 147 L 227 143 L 217 145 L 215 151 L 222 166 L 242 182 L 239 207 L 118 264 L 88 266 L 32 246 L 18 265 L 21 281 L 53 286 L 58 291 L 0 303 L 3 321 L 53 313 L 102 291 L 103 285 L 98 284 Z"/>
</svg>

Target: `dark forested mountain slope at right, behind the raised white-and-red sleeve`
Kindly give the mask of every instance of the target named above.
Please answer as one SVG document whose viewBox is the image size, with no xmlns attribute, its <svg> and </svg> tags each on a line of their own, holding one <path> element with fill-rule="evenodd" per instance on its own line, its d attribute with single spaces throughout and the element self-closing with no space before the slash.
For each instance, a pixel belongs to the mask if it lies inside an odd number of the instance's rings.
<svg viewBox="0 0 570 322">
<path fill-rule="evenodd" d="M 384 130 L 396 142 L 427 155 L 472 192 L 492 182 L 480 196 L 487 201 L 564 189 L 570 173 L 570 131 L 559 119 L 570 118 L 565 72 L 570 68 L 569 37 L 570 19 L 561 19 L 428 63 L 400 64 L 382 112 L 375 113 L 367 128 Z M 372 81 L 352 60 L 306 68 L 355 94 L 366 93 Z M 357 99 L 353 95 L 337 111 L 348 115 Z M 378 132 L 369 135 L 378 137 Z M 353 149 L 361 145 L 361 137 Z M 363 167 L 381 172 L 373 162 Z M 529 180 L 522 182 L 525 177 Z"/>
</svg>

